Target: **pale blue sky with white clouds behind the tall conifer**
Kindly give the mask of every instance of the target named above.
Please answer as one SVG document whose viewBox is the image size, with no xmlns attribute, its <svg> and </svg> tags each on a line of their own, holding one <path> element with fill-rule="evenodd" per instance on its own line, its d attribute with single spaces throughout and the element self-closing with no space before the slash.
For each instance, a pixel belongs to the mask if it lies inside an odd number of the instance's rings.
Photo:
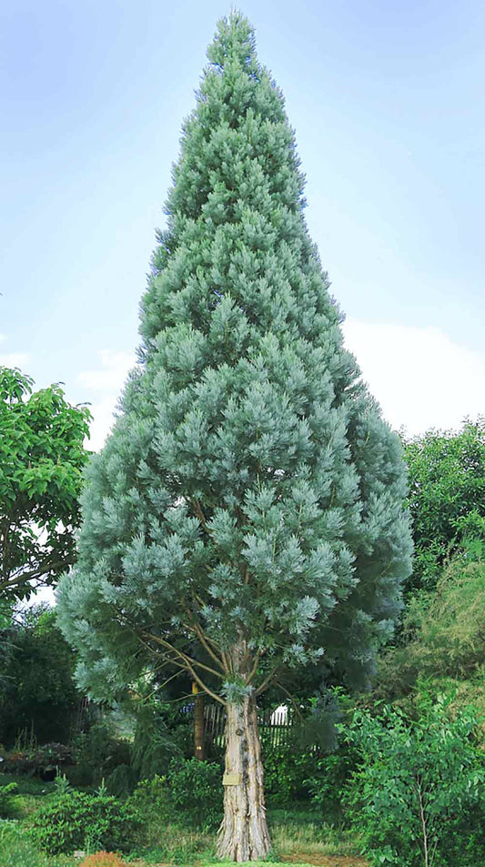
<svg viewBox="0 0 485 867">
<path fill-rule="evenodd" d="M 240 8 L 287 98 L 310 231 L 385 413 L 424 429 L 485 411 L 485 6 Z M 0 0 L 0 363 L 39 386 L 64 380 L 99 431 L 136 347 L 181 121 L 228 9 Z"/>
</svg>

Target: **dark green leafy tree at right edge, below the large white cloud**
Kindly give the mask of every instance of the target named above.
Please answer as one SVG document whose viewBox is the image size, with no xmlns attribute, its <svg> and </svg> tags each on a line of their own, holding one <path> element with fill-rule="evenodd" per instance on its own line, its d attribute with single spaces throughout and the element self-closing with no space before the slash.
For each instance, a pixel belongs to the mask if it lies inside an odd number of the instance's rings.
<svg viewBox="0 0 485 867">
<path fill-rule="evenodd" d="M 485 418 L 405 444 L 414 537 L 408 590 L 432 589 L 464 539 L 485 540 Z"/>
</svg>

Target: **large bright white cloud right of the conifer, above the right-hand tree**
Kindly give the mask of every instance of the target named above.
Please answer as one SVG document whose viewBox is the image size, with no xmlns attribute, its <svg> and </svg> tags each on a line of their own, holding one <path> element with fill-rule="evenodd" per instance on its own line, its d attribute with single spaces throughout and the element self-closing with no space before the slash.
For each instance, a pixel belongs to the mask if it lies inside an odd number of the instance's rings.
<svg viewBox="0 0 485 867">
<path fill-rule="evenodd" d="M 459 428 L 466 416 L 485 413 L 485 353 L 439 328 L 348 319 L 343 330 L 392 427 L 410 434 Z"/>
</svg>

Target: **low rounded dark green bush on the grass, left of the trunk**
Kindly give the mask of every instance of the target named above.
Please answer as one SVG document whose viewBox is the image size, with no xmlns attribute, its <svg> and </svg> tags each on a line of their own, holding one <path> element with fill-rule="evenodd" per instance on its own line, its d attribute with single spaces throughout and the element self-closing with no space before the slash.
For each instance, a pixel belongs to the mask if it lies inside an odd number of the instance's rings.
<svg viewBox="0 0 485 867">
<path fill-rule="evenodd" d="M 133 808 L 116 798 L 75 791 L 36 812 L 31 834 L 50 855 L 94 846 L 126 852 L 139 824 Z"/>
</svg>

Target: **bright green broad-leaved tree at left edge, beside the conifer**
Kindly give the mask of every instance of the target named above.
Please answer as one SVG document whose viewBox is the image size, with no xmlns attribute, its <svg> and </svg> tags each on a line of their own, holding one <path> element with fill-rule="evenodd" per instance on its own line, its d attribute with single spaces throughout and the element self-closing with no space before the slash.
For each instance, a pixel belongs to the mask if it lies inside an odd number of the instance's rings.
<svg viewBox="0 0 485 867">
<path fill-rule="evenodd" d="M 90 413 L 59 385 L 0 368 L 0 600 L 51 585 L 73 562 Z"/>
</svg>

